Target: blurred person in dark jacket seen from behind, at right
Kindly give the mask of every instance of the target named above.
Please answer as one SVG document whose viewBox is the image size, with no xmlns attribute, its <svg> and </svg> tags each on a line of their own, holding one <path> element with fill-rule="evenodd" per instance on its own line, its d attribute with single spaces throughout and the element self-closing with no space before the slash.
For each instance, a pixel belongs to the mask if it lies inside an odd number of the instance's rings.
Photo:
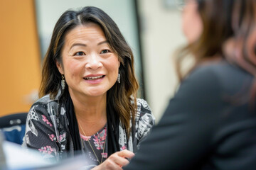
<svg viewBox="0 0 256 170">
<path fill-rule="evenodd" d="M 256 1 L 188 0 L 183 31 L 196 64 L 123 169 L 256 169 Z"/>
</svg>

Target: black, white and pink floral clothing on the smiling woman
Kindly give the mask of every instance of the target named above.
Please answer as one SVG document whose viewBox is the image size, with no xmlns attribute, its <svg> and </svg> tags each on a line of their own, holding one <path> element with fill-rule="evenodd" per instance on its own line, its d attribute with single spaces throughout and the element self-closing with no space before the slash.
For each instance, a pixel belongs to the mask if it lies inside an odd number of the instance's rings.
<svg viewBox="0 0 256 170">
<path fill-rule="evenodd" d="M 59 159 L 64 159 L 70 156 L 72 157 L 74 155 L 74 148 L 71 135 L 68 130 L 68 119 L 65 114 L 65 109 L 66 108 L 63 103 L 59 106 L 58 96 L 54 100 L 51 100 L 49 95 L 38 99 L 38 101 L 31 106 L 31 109 L 28 112 L 23 147 L 37 149 L 38 152 L 41 152 L 43 157 L 46 159 L 56 158 L 58 161 Z M 135 134 L 134 139 L 132 139 L 132 135 L 129 135 L 129 140 L 127 139 L 126 132 L 124 128 L 122 128 L 123 125 L 120 122 L 120 150 L 128 149 L 132 152 L 137 152 L 140 142 L 149 135 L 154 123 L 155 118 L 151 113 L 148 103 L 143 99 L 137 98 L 137 114 L 135 128 L 133 128 L 135 131 L 133 132 Z M 101 161 L 102 155 L 104 156 L 103 159 L 106 159 L 107 157 L 105 154 L 107 153 L 107 150 L 105 150 L 101 155 L 103 152 L 102 144 L 105 143 L 105 128 L 101 132 L 99 131 L 98 134 L 92 135 L 90 139 L 90 145 L 92 145 L 93 149 L 97 151 L 96 155 L 99 161 Z M 83 139 L 82 148 L 87 151 L 85 154 L 89 157 L 91 156 L 90 159 L 92 159 L 92 161 L 95 160 L 95 154 L 92 153 L 93 151 L 91 152 L 92 148 L 88 149 L 90 145 L 88 145 L 89 143 L 86 141 L 87 138 L 81 138 Z M 100 152 L 100 155 L 98 152 Z M 95 163 L 97 162 L 92 162 L 92 164 Z"/>
</svg>

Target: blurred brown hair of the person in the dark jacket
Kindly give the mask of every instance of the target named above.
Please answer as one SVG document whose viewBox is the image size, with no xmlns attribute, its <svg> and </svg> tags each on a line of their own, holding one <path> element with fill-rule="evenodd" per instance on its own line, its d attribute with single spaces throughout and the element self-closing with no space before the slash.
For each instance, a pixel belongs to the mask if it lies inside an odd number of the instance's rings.
<svg viewBox="0 0 256 170">
<path fill-rule="evenodd" d="M 203 33 L 198 40 L 176 53 L 180 81 L 200 62 L 215 56 L 223 57 L 256 76 L 255 0 L 195 1 L 203 22 Z M 227 52 L 227 46 L 231 44 L 233 52 L 237 53 L 235 55 Z M 181 63 L 191 56 L 193 67 L 183 74 Z"/>
</svg>

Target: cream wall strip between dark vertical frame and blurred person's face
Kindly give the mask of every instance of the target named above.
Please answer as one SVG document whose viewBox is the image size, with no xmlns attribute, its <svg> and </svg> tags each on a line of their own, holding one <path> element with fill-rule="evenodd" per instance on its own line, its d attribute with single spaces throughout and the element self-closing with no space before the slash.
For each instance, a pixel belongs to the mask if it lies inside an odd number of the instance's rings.
<svg viewBox="0 0 256 170">
<path fill-rule="evenodd" d="M 174 0 L 173 0 L 174 1 Z M 181 12 L 167 8 L 164 0 L 139 0 L 146 96 L 156 120 L 174 95 L 177 80 L 171 57 L 186 43 Z"/>
</svg>

